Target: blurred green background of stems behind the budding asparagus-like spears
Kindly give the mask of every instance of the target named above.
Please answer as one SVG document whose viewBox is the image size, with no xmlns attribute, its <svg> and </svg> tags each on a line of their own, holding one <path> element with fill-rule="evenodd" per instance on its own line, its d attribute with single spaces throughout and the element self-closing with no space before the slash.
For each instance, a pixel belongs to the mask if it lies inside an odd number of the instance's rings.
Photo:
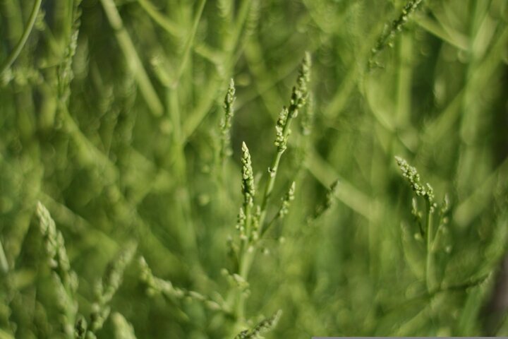
<svg viewBox="0 0 508 339">
<path fill-rule="evenodd" d="M 37 201 L 85 318 L 95 281 L 135 240 L 111 311 L 137 338 L 232 338 L 235 319 L 192 297 L 147 295 L 137 258 L 175 287 L 228 295 L 241 143 L 261 192 L 306 51 L 313 129 L 293 126 L 269 215 L 291 180 L 295 200 L 260 242 L 242 325 L 282 309 L 267 338 L 508 335 L 508 1 L 421 1 L 373 52 L 408 2 L 1 0 L 0 338 L 63 335 Z M 234 154 L 221 164 L 230 78 Z M 433 292 L 395 155 L 449 197 Z M 336 179 L 334 203 L 308 221 Z M 97 337 L 128 338 L 111 320 Z"/>
</svg>

